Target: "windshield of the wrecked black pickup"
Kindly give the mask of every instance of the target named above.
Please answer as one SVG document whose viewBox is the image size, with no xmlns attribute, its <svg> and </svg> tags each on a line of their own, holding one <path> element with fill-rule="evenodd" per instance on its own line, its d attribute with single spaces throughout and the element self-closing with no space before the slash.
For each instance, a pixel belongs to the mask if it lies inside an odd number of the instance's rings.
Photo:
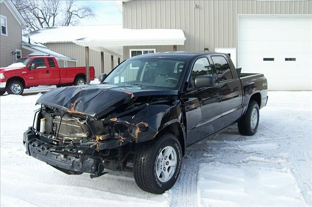
<svg viewBox="0 0 312 207">
<path fill-rule="evenodd" d="M 116 85 L 142 85 L 177 89 L 187 60 L 136 58 L 121 63 L 104 80 Z"/>
</svg>

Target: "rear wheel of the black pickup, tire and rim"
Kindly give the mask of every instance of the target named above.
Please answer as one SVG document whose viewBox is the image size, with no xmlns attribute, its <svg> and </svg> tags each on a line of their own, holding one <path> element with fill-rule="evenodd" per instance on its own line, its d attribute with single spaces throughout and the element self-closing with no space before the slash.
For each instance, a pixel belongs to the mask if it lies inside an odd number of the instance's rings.
<svg viewBox="0 0 312 207">
<path fill-rule="evenodd" d="M 238 131 L 242 135 L 251 136 L 256 133 L 259 124 L 259 105 L 251 101 L 245 115 L 238 121 Z"/>
</svg>

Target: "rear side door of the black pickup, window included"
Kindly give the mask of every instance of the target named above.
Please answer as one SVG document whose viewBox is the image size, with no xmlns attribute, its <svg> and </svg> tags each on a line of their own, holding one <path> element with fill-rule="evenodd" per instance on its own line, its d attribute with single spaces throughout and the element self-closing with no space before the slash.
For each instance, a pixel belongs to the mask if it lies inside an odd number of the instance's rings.
<svg viewBox="0 0 312 207">
<path fill-rule="evenodd" d="M 219 80 L 222 128 L 224 128 L 236 121 L 241 115 L 242 89 L 239 78 L 232 74 L 229 63 L 224 56 L 212 55 L 211 59 Z"/>
</svg>

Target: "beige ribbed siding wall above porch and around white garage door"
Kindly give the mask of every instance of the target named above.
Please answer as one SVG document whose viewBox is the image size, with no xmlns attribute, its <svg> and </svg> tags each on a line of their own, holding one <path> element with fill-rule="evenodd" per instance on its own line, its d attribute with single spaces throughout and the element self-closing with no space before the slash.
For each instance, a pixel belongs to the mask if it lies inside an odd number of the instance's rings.
<svg viewBox="0 0 312 207">
<path fill-rule="evenodd" d="M 198 7 L 196 8 L 195 5 Z M 239 15 L 312 14 L 311 0 L 132 0 L 122 5 L 123 27 L 182 29 L 186 41 L 177 51 L 237 48 Z M 124 58 L 129 50 L 124 48 Z M 156 52 L 172 51 L 158 47 Z"/>
</svg>

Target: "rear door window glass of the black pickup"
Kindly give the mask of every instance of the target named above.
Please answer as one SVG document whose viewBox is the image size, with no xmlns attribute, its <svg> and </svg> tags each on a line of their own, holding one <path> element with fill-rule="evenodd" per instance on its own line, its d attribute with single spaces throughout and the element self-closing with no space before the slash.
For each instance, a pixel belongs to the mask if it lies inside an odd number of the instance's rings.
<svg viewBox="0 0 312 207">
<path fill-rule="evenodd" d="M 212 56 L 211 59 L 214 62 L 219 81 L 233 79 L 230 66 L 223 56 Z"/>
</svg>

